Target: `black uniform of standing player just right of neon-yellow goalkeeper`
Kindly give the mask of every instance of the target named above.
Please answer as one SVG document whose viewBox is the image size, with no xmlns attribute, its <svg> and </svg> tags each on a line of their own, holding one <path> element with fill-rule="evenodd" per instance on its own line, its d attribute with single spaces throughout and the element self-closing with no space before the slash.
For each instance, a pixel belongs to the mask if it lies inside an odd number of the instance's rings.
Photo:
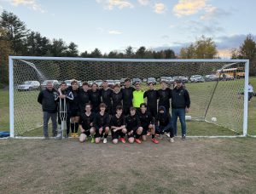
<svg viewBox="0 0 256 194">
<path fill-rule="evenodd" d="M 148 89 L 148 91 L 144 93 L 144 98 L 147 98 L 147 110 L 155 117 L 157 114 L 157 100 L 159 99 L 158 91 Z"/>
</svg>

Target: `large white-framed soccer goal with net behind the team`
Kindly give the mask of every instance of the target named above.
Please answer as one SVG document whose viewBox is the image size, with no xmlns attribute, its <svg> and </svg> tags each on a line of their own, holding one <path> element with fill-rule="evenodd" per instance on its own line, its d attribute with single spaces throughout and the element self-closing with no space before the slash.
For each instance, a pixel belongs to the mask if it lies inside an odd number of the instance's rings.
<svg viewBox="0 0 256 194">
<path fill-rule="evenodd" d="M 246 136 L 248 67 L 248 60 L 10 56 L 10 134 L 11 137 L 43 136 L 43 114 L 37 99 L 46 80 L 52 80 L 58 88 L 62 81 L 68 84 L 71 79 L 89 83 L 101 83 L 101 80 L 120 83 L 125 77 L 139 78 L 146 90 L 147 78 L 154 77 L 156 89 L 160 88 L 161 80 L 171 88 L 175 80 L 183 80 L 191 99 L 187 114 L 189 136 Z M 32 81 L 40 84 L 33 86 Z"/>
</svg>

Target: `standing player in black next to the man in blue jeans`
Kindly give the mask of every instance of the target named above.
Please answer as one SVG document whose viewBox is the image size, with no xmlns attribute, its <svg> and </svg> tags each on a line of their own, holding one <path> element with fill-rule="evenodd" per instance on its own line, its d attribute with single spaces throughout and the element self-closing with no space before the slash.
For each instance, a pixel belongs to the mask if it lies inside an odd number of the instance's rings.
<svg viewBox="0 0 256 194">
<path fill-rule="evenodd" d="M 165 81 L 161 81 L 160 84 L 161 88 L 157 91 L 159 96 L 158 107 L 164 106 L 166 108 L 166 111 L 169 112 L 172 90 L 171 88 L 167 88 L 167 84 Z"/>
</svg>

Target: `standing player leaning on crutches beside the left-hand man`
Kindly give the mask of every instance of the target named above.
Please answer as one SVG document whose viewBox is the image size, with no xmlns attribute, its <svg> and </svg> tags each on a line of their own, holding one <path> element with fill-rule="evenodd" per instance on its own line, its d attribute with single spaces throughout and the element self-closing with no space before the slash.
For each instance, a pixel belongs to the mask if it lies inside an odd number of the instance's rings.
<svg viewBox="0 0 256 194">
<path fill-rule="evenodd" d="M 70 130 L 70 111 L 69 111 L 69 102 L 73 100 L 73 93 L 69 90 L 67 91 L 67 83 L 61 83 L 61 87 L 58 89 L 59 99 L 58 100 L 58 135 L 57 139 L 62 138 L 62 130 L 61 128 L 61 118 L 65 118 L 67 122 L 67 133 L 65 137 L 67 138 Z M 64 100 L 66 100 L 66 107 L 64 104 Z M 66 112 L 62 112 L 66 110 Z"/>
</svg>

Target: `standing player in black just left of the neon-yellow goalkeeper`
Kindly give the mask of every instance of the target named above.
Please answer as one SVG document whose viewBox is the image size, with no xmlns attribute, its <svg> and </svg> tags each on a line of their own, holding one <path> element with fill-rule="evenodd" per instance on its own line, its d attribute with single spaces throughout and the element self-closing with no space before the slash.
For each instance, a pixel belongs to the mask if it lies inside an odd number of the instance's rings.
<svg viewBox="0 0 256 194">
<path fill-rule="evenodd" d="M 131 87 L 131 80 L 125 79 L 125 88 L 121 88 L 121 93 L 123 94 L 123 110 L 125 116 L 130 113 L 130 107 L 132 106 L 133 91 L 135 89 Z"/>
</svg>

